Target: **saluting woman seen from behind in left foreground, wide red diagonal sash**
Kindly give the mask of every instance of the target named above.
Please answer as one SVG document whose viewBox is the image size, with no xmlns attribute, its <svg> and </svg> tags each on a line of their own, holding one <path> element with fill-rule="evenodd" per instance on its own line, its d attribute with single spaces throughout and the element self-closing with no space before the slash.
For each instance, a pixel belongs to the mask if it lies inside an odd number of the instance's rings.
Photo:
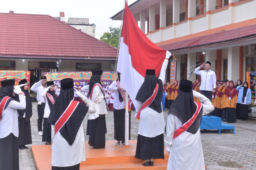
<svg viewBox="0 0 256 170">
<path fill-rule="evenodd" d="M 85 161 L 83 119 L 96 112 L 93 103 L 85 96 L 84 104 L 74 101 L 73 79 L 60 81 L 60 95 L 52 106 L 48 122 L 52 125 L 52 170 L 79 170 Z"/>
</svg>

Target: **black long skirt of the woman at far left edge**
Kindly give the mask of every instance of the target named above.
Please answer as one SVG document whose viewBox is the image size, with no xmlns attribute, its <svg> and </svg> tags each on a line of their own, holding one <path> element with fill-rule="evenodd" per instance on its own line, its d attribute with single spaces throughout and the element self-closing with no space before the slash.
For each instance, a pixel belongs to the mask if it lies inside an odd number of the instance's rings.
<svg viewBox="0 0 256 170">
<path fill-rule="evenodd" d="M 18 137 L 14 136 L 13 133 L 0 139 L 0 168 L 19 169 Z"/>
</svg>

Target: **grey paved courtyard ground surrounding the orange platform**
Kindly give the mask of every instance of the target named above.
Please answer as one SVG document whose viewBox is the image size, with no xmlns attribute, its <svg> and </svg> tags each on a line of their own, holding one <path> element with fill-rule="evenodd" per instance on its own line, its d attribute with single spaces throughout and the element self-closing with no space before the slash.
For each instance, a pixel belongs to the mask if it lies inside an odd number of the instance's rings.
<svg viewBox="0 0 256 170">
<path fill-rule="evenodd" d="M 33 116 L 31 118 L 32 145 L 44 145 L 42 136 L 37 130 L 37 103 L 33 102 Z M 168 111 L 164 111 L 165 120 Z M 132 111 L 131 118 L 131 139 L 137 140 L 138 121 L 134 118 L 135 111 Z M 86 134 L 87 117 L 83 121 Z M 106 115 L 107 134 L 106 140 L 113 140 L 114 143 L 114 120 L 113 112 Z M 235 126 L 235 134 L 217 130 L 201 130 L 201 140 L 204 151 L 204 162 L 207 169 L 255 169 L 256 170 L 256 120 L 237 120 L 232 124 Z M 164 135 L 165 136 L 165 135 Z M 89 137 L 85 136 L 85 141 Z M 20 169 L 35 170 L 36 166 L 31 152 L 31 145 L 28 149 L 19 150 Z"/>
</svg>

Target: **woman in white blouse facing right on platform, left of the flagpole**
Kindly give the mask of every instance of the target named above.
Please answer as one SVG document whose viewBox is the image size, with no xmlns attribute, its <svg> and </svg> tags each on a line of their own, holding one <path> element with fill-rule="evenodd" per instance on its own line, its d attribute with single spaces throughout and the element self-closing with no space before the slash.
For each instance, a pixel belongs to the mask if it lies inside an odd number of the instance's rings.
<svg viewBox="0 0 256 170">
<path fill-rule="evenodd" d="M 89 93 L 87 97 L 93 102 L 96 112 L 88 116 L 86 135 L 89 135 L 89 145 L 93 148 L 105 148 L 107 126 L 105 114 L 108 113 L 106 108 L 104 89 L 101 85 L 102 70 L 93 70 L 89 83 Z"/>
</svg>

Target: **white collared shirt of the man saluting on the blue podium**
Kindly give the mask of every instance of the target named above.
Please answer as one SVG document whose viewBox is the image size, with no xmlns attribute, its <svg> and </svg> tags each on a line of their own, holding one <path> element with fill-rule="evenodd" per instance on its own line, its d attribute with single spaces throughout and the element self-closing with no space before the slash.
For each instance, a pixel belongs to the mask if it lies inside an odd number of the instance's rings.
<svg viewBox="0 0 256 170">
<path fill-rule="evenodd" d="M 212 91 L 216 87 L 216 74 L 214 71 L 200 70 L 200 66 L 194 71 L 201 76 L 200 90 Z M 199 71 L 200 70 L 200 71 Z"/>
</svg>

